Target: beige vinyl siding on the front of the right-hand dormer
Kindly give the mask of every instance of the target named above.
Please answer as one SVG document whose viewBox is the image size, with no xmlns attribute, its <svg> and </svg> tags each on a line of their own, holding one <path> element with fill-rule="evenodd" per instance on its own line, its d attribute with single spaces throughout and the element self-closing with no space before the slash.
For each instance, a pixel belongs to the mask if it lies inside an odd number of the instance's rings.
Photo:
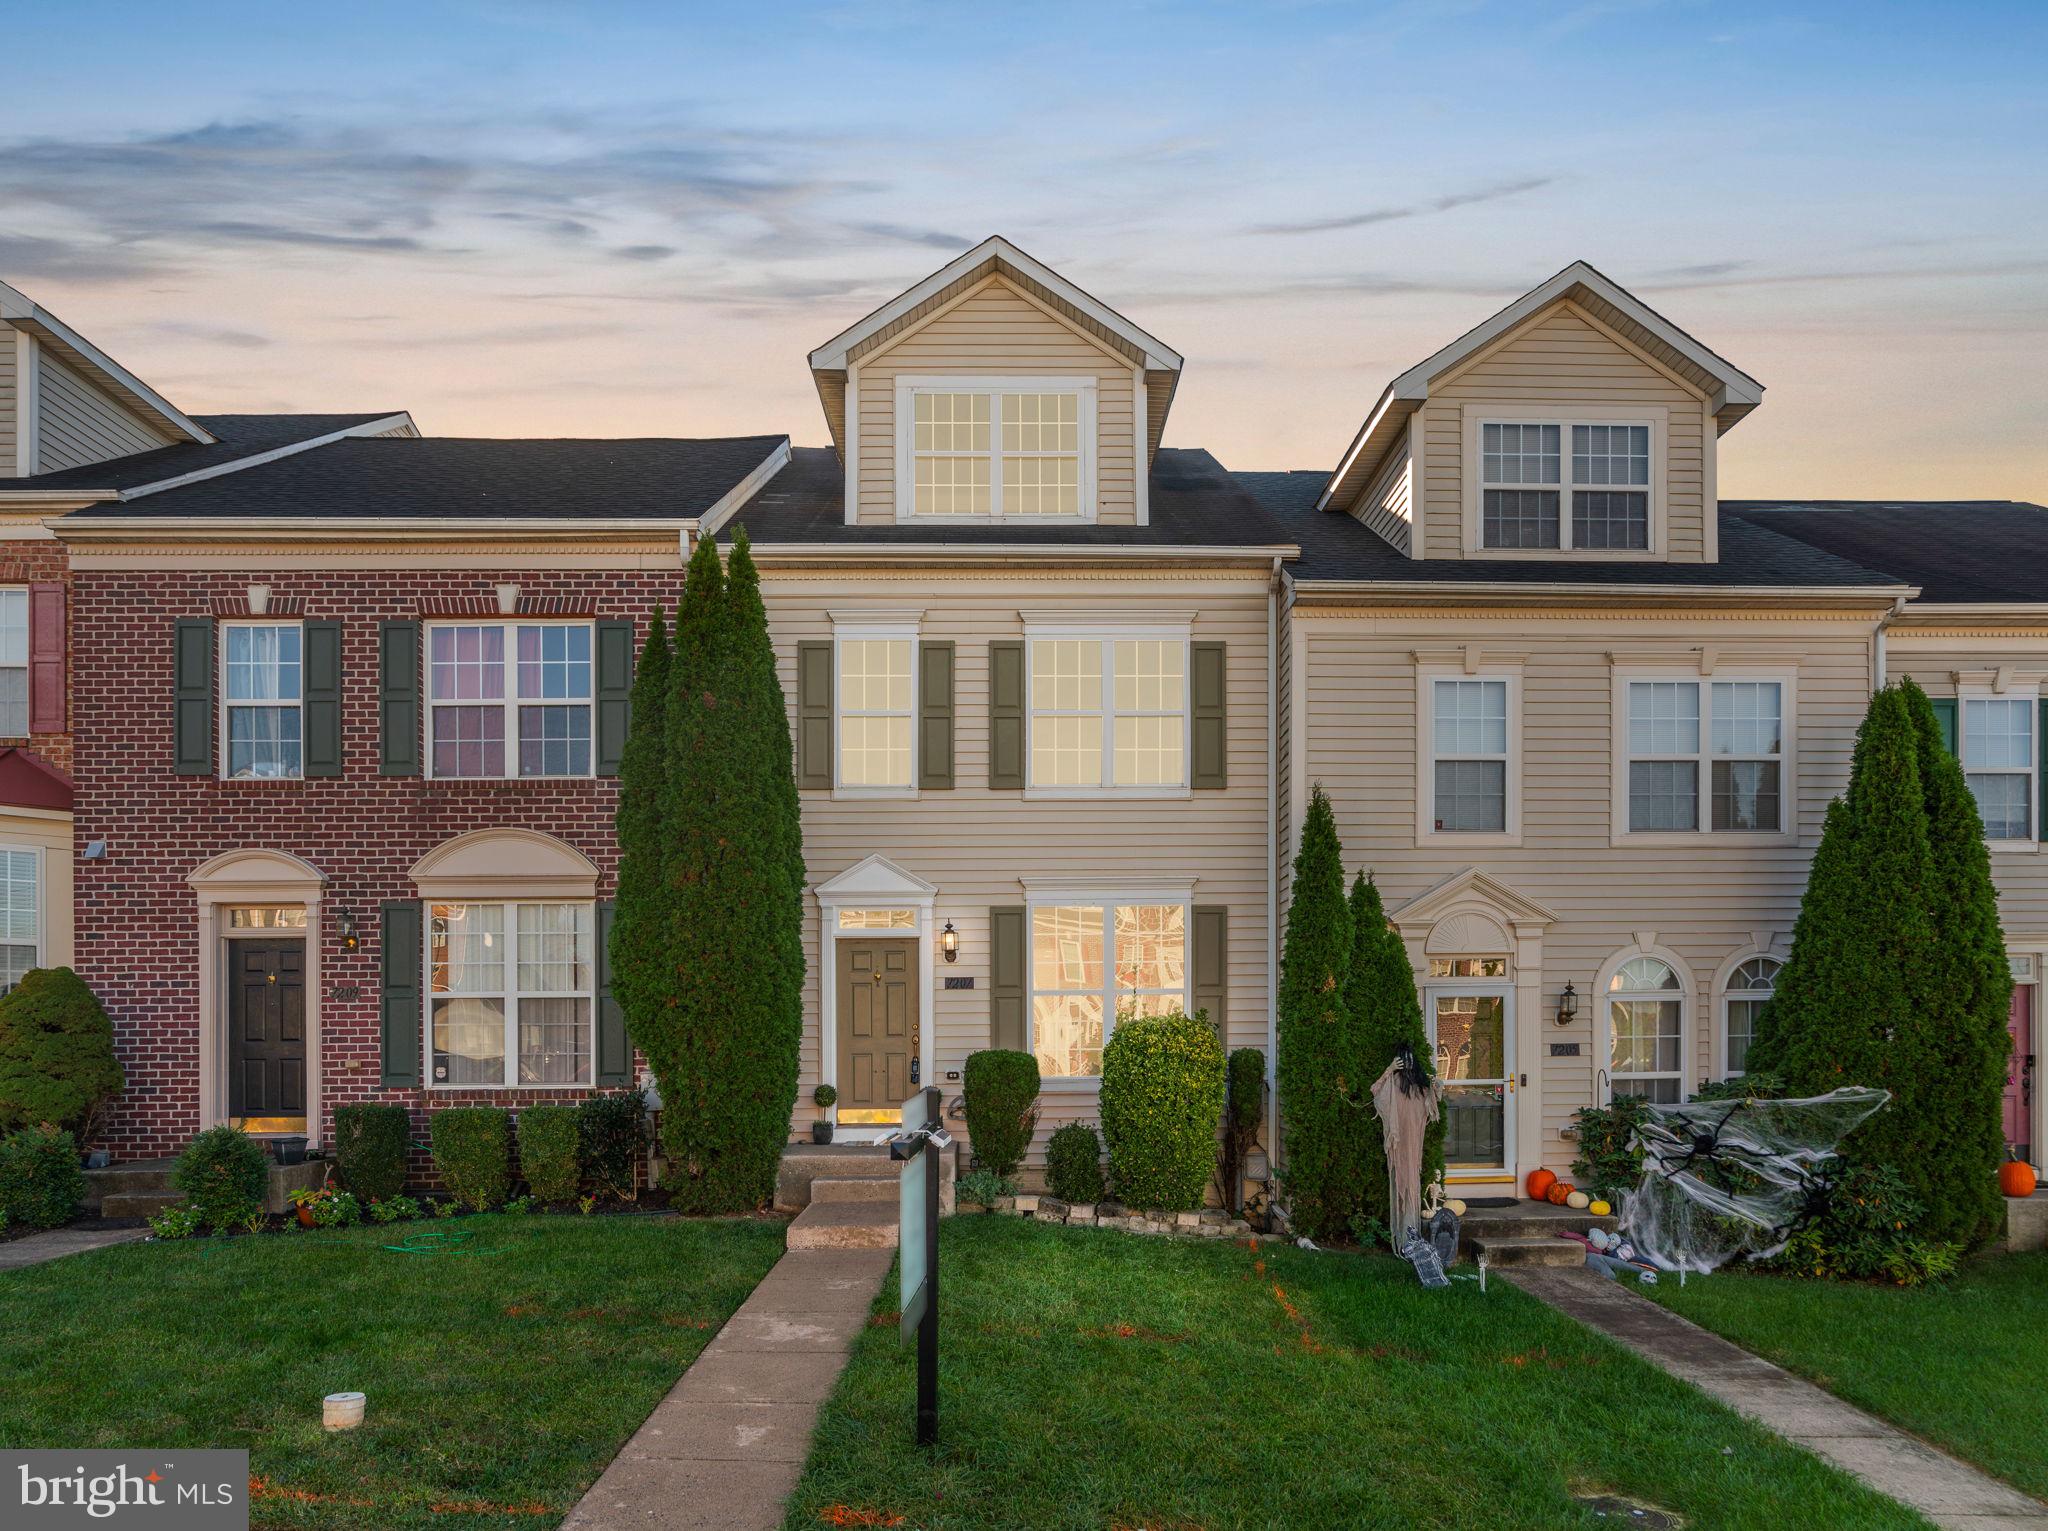
<svg viewBox="0 0 2048 1531">
<path fill-rule="evenodd" d="M 1505 340 L 1473 358 L 1446 379 L 1432 381 L 1430 403 L 1421 409 L 1421 518 L 1423 553 L 1432 559 L 1481 557 L 1466 553 L 1466 424 L 1493 409 L 1516 413 L 1546 405 L 1575 411 L 1604 407 L 1663 411 L 1663 540 L 1651 557 L 1700 563 L 1708 553 L 1704 397 L 1675 381 L 1638 352 L 1602 330 L 1571 303 L 1554 303 L 1530 317 Z M 1565 450 L 1571 450 L 1569 432 Z M 1571 508 L 1565 506 L 1565 514 Z M 1497 557 L 1497 555 L 1485 555 Z M 1532 555 L 1522 555 L 1532 557 Z M 1606 557 L 1606 555 L 1602 555 Z M 1636 555 L 1640 557 L 1640 555 Z"/>
</svg>

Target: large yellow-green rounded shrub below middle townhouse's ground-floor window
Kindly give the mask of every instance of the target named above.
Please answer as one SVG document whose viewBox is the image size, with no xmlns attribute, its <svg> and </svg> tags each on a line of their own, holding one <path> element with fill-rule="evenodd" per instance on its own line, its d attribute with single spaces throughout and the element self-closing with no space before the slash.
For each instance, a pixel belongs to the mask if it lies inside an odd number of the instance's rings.
<svg viewBox="0 0 2048 1531">
<path fill-rule="evenodd" d="M 1221 1118 L 1223 1044 L 1208 1021 L 1176 1013 L 1116 1023 L 1102 1048 L 1102 1136 L 1120 1201 L 1200 1208 Z"/>
</svg>

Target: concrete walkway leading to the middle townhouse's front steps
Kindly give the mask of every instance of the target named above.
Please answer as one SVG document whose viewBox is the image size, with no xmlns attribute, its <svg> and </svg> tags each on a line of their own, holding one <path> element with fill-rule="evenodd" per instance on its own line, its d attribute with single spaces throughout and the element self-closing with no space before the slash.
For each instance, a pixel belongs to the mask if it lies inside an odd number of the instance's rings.
<svg viewBox="0 0 2048 1531">
<path fill-rule="evenodd" d="M 895 1251 L 788 1251 L 561 1531 L 774 1531 Z M 903 1423 L 909 1429 L 909 1420 Z"/>
</svg>

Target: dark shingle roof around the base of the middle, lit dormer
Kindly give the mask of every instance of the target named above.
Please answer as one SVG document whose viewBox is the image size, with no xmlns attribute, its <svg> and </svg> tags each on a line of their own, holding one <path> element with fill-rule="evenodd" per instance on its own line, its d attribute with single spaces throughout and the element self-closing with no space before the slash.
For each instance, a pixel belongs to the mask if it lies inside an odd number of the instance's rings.
<svg viewBox="0 0 2048 1531">
<path fill-rule="evenodd" d="M 829 446 L 799 446 L 791 463 L 733 522 L 756 542 L 846 544 L 1087 544 L 1087 546 L 1282 546 L 1282 532 L 1208 452 L 1161 448 L 1147 485 L 1147 526 L 1030 526 L 1006 520 L 989 526 L 909 522 L 846 524 L 846 469 Z"/>
</svg>

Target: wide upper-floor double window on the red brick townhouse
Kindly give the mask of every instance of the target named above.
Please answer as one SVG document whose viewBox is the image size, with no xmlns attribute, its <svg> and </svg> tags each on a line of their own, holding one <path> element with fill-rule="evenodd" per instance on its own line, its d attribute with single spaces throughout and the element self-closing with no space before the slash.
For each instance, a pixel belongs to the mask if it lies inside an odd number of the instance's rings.
<svg viewBox="0 0 2048 1531">
<path fill-rule="evenodd" d="M 590 776 L 588 622 L 444 622 L 428 628 L 434 776 Z"/>
</svg>

